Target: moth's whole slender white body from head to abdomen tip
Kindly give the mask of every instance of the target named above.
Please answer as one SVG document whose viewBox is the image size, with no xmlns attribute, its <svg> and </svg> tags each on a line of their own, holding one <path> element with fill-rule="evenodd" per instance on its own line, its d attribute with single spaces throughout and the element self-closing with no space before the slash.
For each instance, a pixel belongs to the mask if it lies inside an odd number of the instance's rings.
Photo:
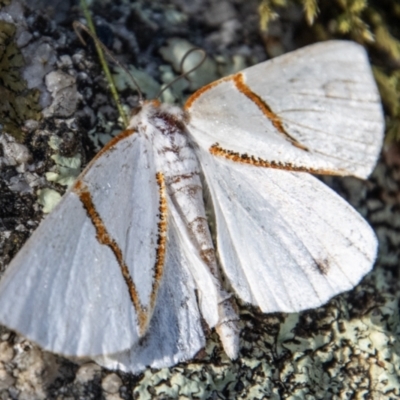
<svg viewBox="0 0 400 400">
<path fill-rule="evenodd" d="M 153 143 L 155 165 L 165 180 L 171 223 L 174 222 L 181 230 L 180 234 L 189 239 L 197 256 L 213 276 L 218 299 L 218 322 L 215 327 L 226 353 L 235 358 L 239 348 L 239 318 L 233 299 L 220 283 L 204 208 L 200 164 L 190 145 L 184 112 L 173 106 L 148 102 L 131 119 L 129 127 L 138 130 L 139 135 L 146 136 Z M 193 279 L 196 282 L 196 273 Z M 201 284 L 197 283 L 200 290 Z"/>
</svg>

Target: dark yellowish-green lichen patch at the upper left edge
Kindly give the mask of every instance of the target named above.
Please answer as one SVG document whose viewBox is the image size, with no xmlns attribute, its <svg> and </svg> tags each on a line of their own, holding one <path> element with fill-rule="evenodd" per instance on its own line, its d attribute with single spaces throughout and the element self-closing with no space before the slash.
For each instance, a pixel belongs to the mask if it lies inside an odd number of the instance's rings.
<svg viewBox="0 0 400 400">
<path fill-rule="evenodd" d="M 18 141 L 24 139 L 21 129 L 28 119 L 40 118 L 39 91 L 28 90 L 21 78 L 22 54 L 14 43 L 16 28 L 0 21 L 0 124 L 3 131 Z"/>
</svg>

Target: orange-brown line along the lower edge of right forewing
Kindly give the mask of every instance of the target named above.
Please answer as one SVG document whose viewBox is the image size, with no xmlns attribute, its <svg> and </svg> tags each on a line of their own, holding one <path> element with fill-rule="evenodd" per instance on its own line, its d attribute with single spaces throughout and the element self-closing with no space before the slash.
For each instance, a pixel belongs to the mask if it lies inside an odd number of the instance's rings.
<svg viewBox="0 0 400 400">
<path fill-rule="evenodd" d="M 249 156 L 247 154 L 239 154 L 231 150 L 225 150 L 218 145 L 218 143 L 213 144 L 210 147 L 210 153 L 224 157 L 228 160 L 234 162 L 240 162 L 244 164 L 251 164 L 255 167 L 265 167 L 265 168 L 274 168 L 274 169 L 283 169 L 286 171 L 294 171 L 294 172 L 308 172 L 311 174 L 320 174 L 320 175 L 348 175 L 346 172 L 343 171 L 343 174 L 340 171 L 334 171 L 329 169 L 318 169 L 318 168 L 308 168 L 308 167 L 301 167 L 296 166 L 291 163 L 282 163 L 277 161 L 265 161 L 259 157 Z"/>
</svg>

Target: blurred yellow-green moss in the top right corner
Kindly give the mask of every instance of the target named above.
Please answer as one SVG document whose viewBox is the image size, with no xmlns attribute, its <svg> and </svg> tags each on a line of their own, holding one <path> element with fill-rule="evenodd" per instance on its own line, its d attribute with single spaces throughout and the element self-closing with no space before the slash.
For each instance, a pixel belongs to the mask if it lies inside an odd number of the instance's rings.
<svg viewBox="0 0 400 400">
<path fill-rule="evenodd" d="M 350 39 L 368 51 L 386 113 L 386 140 L 400 140 L 400 2 L 398 0 L 260 0 L 260 29 L 301 5 L 298 37 L 308 42 Z M 306 43 L 302 43 L 303 45 Z"/>
</svg>

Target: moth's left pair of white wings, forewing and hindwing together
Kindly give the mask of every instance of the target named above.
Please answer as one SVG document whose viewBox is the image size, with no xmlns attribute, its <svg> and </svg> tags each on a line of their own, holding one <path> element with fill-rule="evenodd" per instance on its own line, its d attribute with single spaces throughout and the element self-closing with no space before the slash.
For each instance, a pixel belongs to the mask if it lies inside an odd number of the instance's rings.
<svg viewBox="0 0 400 400">
<path fill-rule="evenodd" d="M 4 324 L 47 350 L 131 372 L 174 365 L 204 346 L 197 302 L 214 326 L 217 293 L 169 199 L 165 262 L 151 308 L 161 212 L 151 145 L 136 134 L 117 138 L 43 221 L 1 281 Z M 147 308 L 146 332 L 140 332 L 118 250 Z"/>
</svg>

